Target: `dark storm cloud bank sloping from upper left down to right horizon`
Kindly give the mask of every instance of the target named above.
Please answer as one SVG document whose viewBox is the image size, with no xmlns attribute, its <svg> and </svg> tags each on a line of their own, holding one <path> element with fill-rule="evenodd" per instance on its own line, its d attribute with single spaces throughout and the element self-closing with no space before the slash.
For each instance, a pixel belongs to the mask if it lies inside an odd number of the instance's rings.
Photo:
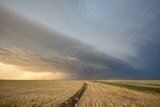
<svg viewBox="0 0 160 107">
<path fill-rule="evenodd" d="M 0 61 L 23 70 L 63 71 L 72 79 L 155 79 L 97 48 L 0 10 Z M 145 75 L 144 75 L 145 74 Z M 152 76 L 150 76 L 152 75 Z"/>
</svg>

